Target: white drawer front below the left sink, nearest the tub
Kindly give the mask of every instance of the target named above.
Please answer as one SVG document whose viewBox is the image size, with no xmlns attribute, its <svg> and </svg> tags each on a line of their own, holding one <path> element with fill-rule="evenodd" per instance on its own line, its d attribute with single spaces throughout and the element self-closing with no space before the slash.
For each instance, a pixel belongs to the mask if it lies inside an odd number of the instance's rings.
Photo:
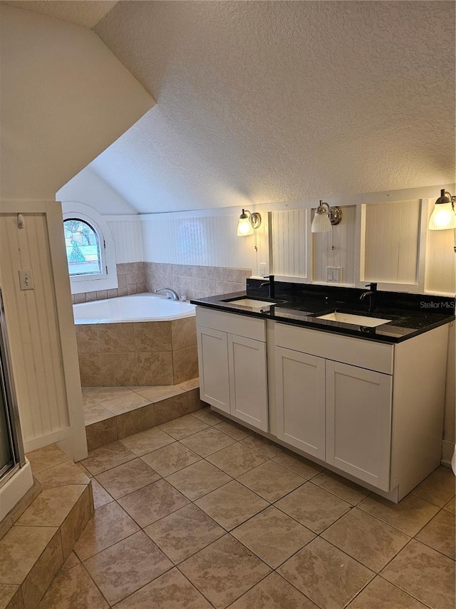
<svg viewBox="0 0 456 609">
<path fill-rule="evenodd" d="M 266 342 L 266 321 L 197 306 L 197 325 Z"/>
</svg>

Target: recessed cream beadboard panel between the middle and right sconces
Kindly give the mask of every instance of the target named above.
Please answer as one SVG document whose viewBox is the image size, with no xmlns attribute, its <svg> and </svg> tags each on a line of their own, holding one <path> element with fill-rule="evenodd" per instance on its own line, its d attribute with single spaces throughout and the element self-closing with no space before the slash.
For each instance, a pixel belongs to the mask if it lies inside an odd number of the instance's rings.
<svg viewBox="0 0 456 609">
<path fill-rule="evenodd" d="M 417 283 L 420 201 L 367 205 L 365 222 L 363 281 Z"/>
</svg>

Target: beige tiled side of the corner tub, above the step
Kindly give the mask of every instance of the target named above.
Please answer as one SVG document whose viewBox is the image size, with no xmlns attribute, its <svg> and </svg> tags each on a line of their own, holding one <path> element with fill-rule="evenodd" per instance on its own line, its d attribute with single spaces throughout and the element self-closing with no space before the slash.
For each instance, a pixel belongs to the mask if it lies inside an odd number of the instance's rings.
<svg viewBox="0 0 456 609">
<path fill-rule="evenodd" d="M 83 386 L 177 385 L 198 376 L 195 317 L 76 326 Z"/>
</svg>

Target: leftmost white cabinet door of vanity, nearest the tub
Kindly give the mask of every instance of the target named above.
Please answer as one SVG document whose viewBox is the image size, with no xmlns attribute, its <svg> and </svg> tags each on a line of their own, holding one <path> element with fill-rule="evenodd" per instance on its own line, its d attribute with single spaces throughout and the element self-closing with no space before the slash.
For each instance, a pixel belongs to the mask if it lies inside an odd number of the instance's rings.
<svg viewBox="0 0 456 609">
<path fill-rule="evenodd" d="M 197 326 L 199 395 L 229 413 L 227 333 Z"/>
</svg>

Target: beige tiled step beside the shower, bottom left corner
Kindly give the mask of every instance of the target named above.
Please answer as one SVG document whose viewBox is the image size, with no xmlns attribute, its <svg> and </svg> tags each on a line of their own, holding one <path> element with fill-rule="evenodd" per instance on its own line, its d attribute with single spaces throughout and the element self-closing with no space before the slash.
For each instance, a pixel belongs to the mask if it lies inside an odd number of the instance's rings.
<svg viewBox="0 0 456 609">
<path fill-rule="evenodd" d="M 58 446 L 27 457 L 35 485 L 0 525 L 0 609 L 38 606 L 93 515 L 90 479 Z"/>
</svg>

